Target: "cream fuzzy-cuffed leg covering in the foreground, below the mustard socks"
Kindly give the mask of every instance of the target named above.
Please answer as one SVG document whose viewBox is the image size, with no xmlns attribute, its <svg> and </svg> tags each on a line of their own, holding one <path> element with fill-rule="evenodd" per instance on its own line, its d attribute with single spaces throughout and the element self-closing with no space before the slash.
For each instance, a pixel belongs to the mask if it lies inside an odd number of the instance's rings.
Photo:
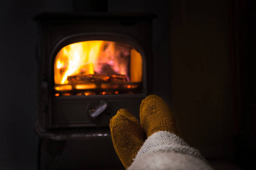
<svg viewBox="0 0 256 170">
<path fill-rule="evenodd" d="M 158 131 L 144 142 L 128 170 L 212 168 L 195 148 L 168 131 Z"/>
</svg>

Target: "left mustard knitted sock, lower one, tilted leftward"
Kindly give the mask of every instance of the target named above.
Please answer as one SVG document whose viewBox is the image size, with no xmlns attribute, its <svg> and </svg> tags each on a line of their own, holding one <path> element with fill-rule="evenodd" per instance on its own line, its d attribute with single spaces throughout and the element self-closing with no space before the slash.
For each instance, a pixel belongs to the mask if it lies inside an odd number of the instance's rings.
<svg viewBox="0 0 256 170">
<path fill-rule="evenodd" d="M 109 126 L 115 152 L 127 169 L 142 147 L 146 134 L 139 121 L 126 109 L 120 109 Z"/>
</svg>

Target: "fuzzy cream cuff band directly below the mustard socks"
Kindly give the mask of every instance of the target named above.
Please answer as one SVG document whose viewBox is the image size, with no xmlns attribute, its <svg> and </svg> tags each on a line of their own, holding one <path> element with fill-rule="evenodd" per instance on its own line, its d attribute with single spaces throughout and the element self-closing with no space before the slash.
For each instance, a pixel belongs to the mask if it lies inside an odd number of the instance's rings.
<svg viewBox="0 0 256 170">
<path fill-rule="evenodd" d="M 135 160 L 156 152 L 177 152 L 204 160 L 198 150 L 189 147 L 183 139 L 168 131 L 158 131 L 148 137 L 139 150 Z"/>
</svg>

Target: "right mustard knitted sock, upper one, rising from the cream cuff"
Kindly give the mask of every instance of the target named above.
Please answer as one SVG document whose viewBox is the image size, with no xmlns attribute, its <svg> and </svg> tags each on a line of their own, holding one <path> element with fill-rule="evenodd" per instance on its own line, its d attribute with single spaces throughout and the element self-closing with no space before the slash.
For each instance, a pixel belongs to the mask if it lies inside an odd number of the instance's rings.
<svg viewBox="0 0 256 170">
<path fill-rule="evenodd" d="M 150 95 L 142 100 L 140 118 L 147 137 L 158 131 L 170 131 L 177 135 L 175 118 L 168 105 L 159 96 Z"/>
</svg>

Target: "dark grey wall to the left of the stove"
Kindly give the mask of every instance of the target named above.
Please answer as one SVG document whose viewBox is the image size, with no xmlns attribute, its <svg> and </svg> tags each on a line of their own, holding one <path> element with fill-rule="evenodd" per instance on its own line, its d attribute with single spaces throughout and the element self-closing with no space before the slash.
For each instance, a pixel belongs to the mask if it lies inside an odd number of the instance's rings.
<svg viewBox="0 0 256 170">
<path fill-rule="evenodd" d="M 42 11 L 72 10 L 69 1 L 1 1 L 0 169 L 36 169 L 36 23 Z"/>
</svg>

